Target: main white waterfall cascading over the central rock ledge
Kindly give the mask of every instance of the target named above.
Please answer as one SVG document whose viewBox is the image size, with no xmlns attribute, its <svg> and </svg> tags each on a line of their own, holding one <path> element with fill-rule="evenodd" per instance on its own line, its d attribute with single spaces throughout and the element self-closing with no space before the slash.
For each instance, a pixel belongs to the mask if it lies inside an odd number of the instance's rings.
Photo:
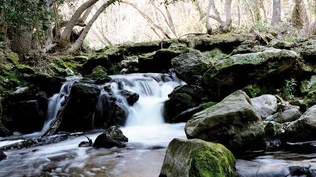
<svg viewBox="0 0 316 177">
<path fill-rule="evenodd" d="M 175 74 L 129 74 L 111 76 L 111 92 L 117 102 L 126 108 L 125 126 L 157 125 L 164 123 L 163 105 L 168 99 L 168 94 L 179 85 L 186 84 L 179 80 Z M 104 88 L 106 85 L 102 86 Z M 120 95 L 120 90 L 125 89 L 139 94 L 138 101 L 130 106 L 126 98 Z M 109 93 L 104 89 L 99 96 L 97 112 L 99 115 L 111 111 L 108 109 Z M 106 111 L 104 111 L 106 110 Z M 102 114 L 103 113 L 103 114 Z M 109 115 L 107 115 L 109 116 Z M 109 118 L 108 118 L 109 119 Z"/>
</svg>

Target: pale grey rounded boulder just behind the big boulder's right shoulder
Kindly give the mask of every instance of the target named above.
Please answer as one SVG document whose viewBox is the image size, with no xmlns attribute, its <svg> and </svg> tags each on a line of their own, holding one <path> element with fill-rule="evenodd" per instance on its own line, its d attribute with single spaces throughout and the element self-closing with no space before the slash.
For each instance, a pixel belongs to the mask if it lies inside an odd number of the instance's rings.
<svg viewBox="0 0 316 177">
<path fill-rule="evenodd" d="M 274 95 L 266 94 L 251 98 L 251 103 L 262 118 L 267 118 L 277 110 L 277 102 Z"/>
</svg>

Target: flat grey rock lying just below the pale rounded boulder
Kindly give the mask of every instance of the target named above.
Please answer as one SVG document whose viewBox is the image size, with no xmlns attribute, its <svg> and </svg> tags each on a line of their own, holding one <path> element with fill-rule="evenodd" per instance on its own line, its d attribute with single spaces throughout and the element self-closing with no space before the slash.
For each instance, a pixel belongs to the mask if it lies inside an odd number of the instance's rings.
<svg viewBox="0 0 316 177">
<path fill-rule="evenodd" d="M 301 113 L 298 109 L 289 109 L 284 111 L 283 113 L 276 113 L 272 116 L 266 118 L 267 121 L 273 120 L 278 123 L 285 123 L 289 121 L 295 121 L 300 118 Z"/>
</svg>

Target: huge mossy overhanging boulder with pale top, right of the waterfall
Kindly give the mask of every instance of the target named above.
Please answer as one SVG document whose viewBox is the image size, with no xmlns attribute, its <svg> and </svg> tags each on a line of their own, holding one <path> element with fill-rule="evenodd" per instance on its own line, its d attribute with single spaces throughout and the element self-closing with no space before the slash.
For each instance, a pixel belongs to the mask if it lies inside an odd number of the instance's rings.
<svg viewBox="0 0 316 177">
<path fill-rule="evenodd" d="M 280 49 L 234 55 L 220 60 L 208 69 L 203 75 L 202 83 L 211 91 L 213 98 L 220 100 L 236 89 L 259 81 L 270 79 L 269 81 L 277 84 L 283 82 L 288 75 L 282 77 L 280 73 L 292 71 L 296 59 L 296 52 Z"/>
</svg>

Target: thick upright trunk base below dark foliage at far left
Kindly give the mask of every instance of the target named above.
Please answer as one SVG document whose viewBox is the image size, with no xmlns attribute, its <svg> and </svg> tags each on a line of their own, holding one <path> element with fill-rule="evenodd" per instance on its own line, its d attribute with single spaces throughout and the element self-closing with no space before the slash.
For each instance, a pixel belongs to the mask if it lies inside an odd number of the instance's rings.
<svg viewBox="0 0 316 177">
<path fill-rule="evenodd" d="M 11 41 L 12 52 L 23 54 L 32 50 L 32 32 L 26 31 L 16 31 L 13 39 Z"/>
</svg>

